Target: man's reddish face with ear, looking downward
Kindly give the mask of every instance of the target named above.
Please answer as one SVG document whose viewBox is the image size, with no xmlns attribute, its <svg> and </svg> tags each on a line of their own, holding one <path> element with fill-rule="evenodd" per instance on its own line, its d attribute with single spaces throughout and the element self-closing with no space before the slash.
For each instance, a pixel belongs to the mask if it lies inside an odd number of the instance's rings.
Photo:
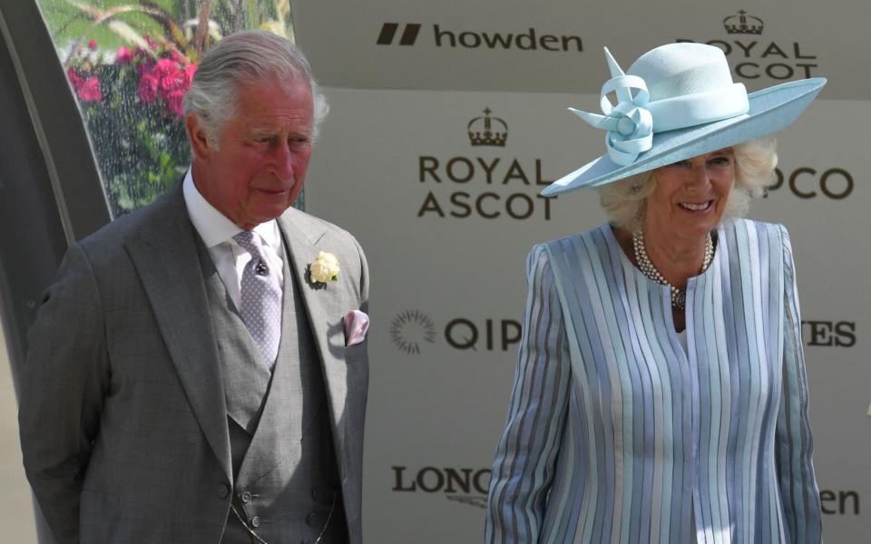
<svg viewBox="0 0 871 544">
<path fill-rule="evenodd" d="M 240 87 L 238 113 L 220 132 L 217 149 L 189 116 L 202 196 L 240 228 L 275 219 L 299 196 L 308 170 L 313 104 L 308 83 L 274 80 Z"/>
</svg>

